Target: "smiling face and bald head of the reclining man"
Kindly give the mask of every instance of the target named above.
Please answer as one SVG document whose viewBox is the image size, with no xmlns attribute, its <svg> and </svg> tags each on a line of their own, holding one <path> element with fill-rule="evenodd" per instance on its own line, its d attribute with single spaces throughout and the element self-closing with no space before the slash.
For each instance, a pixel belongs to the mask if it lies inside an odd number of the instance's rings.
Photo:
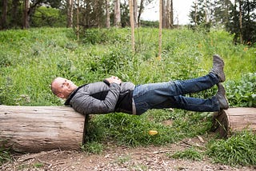
<svg viewBox="0 0 256 171">
<path fill-rule="evenodd" d="M 58 91 L 56 95 L 61 98 L 69 97 L 70 93 L 77 89 L 77 85 L 66 78 L 55 78 L 52 86 Z"/>
</svg>

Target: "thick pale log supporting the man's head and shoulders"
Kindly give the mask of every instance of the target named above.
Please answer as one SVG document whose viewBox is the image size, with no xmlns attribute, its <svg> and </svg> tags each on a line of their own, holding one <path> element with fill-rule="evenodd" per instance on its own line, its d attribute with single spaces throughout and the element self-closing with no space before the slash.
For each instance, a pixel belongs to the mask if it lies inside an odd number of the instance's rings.
<svg viewBox="0 0 256 171">
<path fill-rule="evenodd" d="M 66 106 L 0 105 L 0 143 L 31 153 L 79 149 L 84 121 Z"/>
</svg>

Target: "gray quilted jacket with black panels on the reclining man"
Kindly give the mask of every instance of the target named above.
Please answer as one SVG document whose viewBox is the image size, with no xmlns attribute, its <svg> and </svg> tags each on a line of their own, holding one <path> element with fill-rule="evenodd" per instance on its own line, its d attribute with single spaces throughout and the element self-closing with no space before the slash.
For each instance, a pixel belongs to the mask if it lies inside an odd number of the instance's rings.
<svg viewBox="0 0 256 171">
<path fill-rule="evenodd" d="M 82 85 L 70 94 L 65 105 L 71 105 L 74 110 L 82 114 L 133 113 L 134 87 L 131 82 L 122 82 L 121 85 L 116 83 L 107 85 L 105 82 Z"/>
</svg>

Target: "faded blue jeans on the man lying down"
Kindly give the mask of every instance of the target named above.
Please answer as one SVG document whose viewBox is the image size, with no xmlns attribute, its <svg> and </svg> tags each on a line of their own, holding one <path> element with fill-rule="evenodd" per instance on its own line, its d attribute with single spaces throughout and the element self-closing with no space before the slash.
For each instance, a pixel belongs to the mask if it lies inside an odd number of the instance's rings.
<svg viewBox="0 0 256 171">
<path fill-rule="evenodd" d="M 145 113 L 148 109 L 177 108 L 198 112 L 219 110 L 216 97 L 208 99 L 185 97 L 186 93 L 196 93 L 210 89 L 219 82 L 218 76 L 210 73 L 201 78 L 185 81 L 170 81 L 136 85 L 133 93 L 136 114 Z"/>
</svg>

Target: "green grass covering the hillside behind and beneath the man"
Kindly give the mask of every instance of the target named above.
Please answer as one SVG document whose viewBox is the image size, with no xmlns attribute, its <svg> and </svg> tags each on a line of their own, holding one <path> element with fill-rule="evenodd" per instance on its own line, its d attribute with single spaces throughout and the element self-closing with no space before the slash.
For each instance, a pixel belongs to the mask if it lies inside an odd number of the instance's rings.
<svg viewBox="0 0 256 171">
<path fill-rule="evenodd" d="M 135 84 L 197 78 L 209 72 L 212 55 L 220 54 L 226 62 L 224 85 L 230 105 L 256 106 L 255 47 L 234 46 L 232 35 L 225 31 L 163 30 L 162 58 L 158 57 L 157 29 L 135 31 L 135 53 L 130 49 L 129 28 L 91 29 L 81 35 L 78 41 L 73 30 L 66 28 L 1 31 L 0 103 L 62 105 L 63 101 L 50 92 L 55 77 L 69 78 L 77 85 L 102 81 L 110 75 Z M 210 97 L 216 90 L 214 87 L 190 96 Z M 167 120 L 170 125 L 163 124 Z M 123 113 L 98 115 L 91 120 L 90 141 L 82 148 L 101 153 L 104 143 L 110 140 L 119 145 L 166 145 L 207 134 L 210 126 L 210 113 L 179 109 L 150 110 L 139 117 Z M 150 129 L 158 134 L 150 136 Z M 241 141 L 244 138 L 238 137 Z M 4 155 L 1 152 L 1 157 L 6 158 Z"/>
</svg>

